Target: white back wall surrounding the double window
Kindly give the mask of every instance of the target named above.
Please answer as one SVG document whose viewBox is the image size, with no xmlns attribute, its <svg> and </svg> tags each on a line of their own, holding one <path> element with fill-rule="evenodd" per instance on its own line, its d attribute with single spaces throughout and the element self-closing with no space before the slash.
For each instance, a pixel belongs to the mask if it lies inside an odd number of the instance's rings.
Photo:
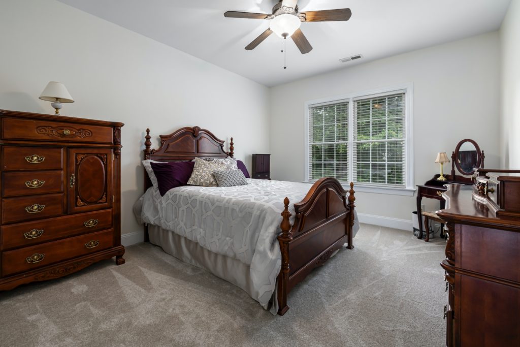
<svg viewBox="0 0 520 347">
<path fill-rule="evenodd" d="M 304 179 L 305 101 L 406 83 L 414 86 L 416 185 L 438 173 L 436 153 L 451 154 L 463 138 L 476 140 L 485 151 L 486 167 L 497 166 L 499 43 L 498 32 L 492 32 L 271 88 L 271 177 Z M 410 220 L 415 211 L 415 197 L 356 196 L 360 213 Z"/>
</svg>

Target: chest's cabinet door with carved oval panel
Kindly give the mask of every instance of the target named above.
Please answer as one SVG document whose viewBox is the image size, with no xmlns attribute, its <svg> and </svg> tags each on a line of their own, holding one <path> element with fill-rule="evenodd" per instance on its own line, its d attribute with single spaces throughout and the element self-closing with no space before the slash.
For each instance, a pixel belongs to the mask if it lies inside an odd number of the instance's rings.
<svg viewBox="0 0 520 347">
<path fill-rule="evenodd" d="M 113 197 L 111 149 L 69 149 L 69 213 L 110 208 Z"/>
</svg>

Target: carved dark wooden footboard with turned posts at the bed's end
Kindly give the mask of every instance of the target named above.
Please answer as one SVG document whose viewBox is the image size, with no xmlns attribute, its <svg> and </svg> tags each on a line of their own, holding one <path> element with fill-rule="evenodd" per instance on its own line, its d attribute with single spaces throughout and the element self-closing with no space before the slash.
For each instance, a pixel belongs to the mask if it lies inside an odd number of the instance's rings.
<svg viewBox="0 0 520 347">
<path fill-rule="evenodd" d="M 305 198 L 294 204 L 296 213 L 291 226 L 289 199 L 283 201 L 282 233 L 278 236 L 282 253 L 282 268 L 278 275 L 278 314 L 283 315 L 289 306 L 287 295 L 315 267 L 323 265 L 332 253 L 347 243 L 353 249 L 354 184 L 343 189 L 337 179 L 321 178 Z"/>
</svg>

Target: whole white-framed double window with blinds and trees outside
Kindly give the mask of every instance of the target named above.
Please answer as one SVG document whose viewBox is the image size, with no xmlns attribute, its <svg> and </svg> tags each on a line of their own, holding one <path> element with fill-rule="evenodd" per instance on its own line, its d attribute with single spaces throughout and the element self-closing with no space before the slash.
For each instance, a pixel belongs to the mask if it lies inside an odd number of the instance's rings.
<svg viewBox="0 0 520 347">
<path fill-rule="evenodd" d="M 306 181 L 331 176 L 360 191 L 412 195 L 411 94 L 407 86 L 309 102 Z"/>
</svg>

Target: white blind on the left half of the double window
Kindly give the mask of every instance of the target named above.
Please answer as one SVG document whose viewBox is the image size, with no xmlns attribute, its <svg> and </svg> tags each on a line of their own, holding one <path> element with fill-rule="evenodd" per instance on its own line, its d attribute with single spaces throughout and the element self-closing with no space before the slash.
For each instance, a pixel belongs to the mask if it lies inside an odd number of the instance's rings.
<svg viewBox="0 0 520 347">
<path fill-rule="evenodd" d="M 308 178 L 348 182 L 348 101 L 309 107 Z"/>
</svg>

